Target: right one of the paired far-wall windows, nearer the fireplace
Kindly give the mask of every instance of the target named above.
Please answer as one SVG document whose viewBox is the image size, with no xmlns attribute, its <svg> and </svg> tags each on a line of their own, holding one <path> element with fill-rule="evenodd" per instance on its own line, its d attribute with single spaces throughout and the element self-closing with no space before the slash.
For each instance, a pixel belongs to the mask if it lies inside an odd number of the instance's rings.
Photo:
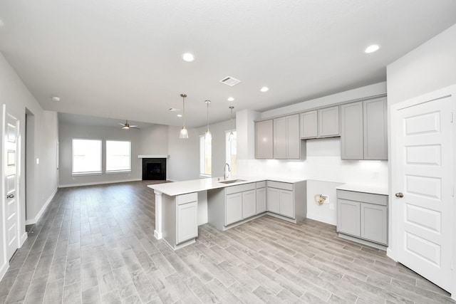
<svg viewBox="0 0 456 304">
<path fill-rule="evenodd" d="M 131 170 L 131 142 L 106 140 L 106 172 Z"/>
</svg>

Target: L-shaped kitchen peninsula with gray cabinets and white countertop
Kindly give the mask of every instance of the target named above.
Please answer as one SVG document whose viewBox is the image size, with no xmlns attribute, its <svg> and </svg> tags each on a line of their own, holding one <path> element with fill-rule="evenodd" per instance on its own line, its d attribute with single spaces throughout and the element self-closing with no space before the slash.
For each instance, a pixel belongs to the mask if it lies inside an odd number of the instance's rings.
<svg viewBox="0 0 456 304">
<path fill-rule="evenodd" d="M 293 223 L 306 217 L 305 180 L 214 177 L 147 187 L 155 193 L 154 236 L 173 249 L 195 243 L 206 222 L 225 230 L 266 214 Z"/>
</svg>

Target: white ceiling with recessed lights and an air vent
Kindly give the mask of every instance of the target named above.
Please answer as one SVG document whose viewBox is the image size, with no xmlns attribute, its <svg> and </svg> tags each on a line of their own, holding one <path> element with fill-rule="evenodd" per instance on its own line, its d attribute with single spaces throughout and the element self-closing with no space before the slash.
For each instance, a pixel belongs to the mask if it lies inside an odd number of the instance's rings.
<svg viewBox="0 0 456 304">
<path fill-rule="evenodd" d="M 454 23 L 454 0 L 2 0 L 0 51 L 46 110 L 182 125 L 168 108 L 187 93 L 197 127 L 207 99 L 218 122 L 385 81 Z"/>
</svg>

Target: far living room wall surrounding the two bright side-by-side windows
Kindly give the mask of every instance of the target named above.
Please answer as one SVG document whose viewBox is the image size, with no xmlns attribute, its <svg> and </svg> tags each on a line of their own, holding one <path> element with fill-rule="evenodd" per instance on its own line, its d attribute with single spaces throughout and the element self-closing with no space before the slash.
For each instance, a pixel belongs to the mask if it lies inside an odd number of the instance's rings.
<svg viewBox="0 0 456 304">
<path fill-rule="evenodd" d="M 141 130 L 122 130 L 120 127 L 102 127 L 90 125 L 73 125 L 69 123 L 59 124 L 60 138 L 60 186 L 80 186 L 84 184 L 105 184 L 108 182 L 125 182 L 142 179 L 142 161 L 138 159 L 140 154 Z M 103 147 L 103 174 L 78 175 L 73 177 L 72 171 L 72 140 L 93 139 L 102 140 Z M 105 171 L 105 141 L 128 140 L 131 142 L 131 172 L 106 174 Z"/>
</svg>

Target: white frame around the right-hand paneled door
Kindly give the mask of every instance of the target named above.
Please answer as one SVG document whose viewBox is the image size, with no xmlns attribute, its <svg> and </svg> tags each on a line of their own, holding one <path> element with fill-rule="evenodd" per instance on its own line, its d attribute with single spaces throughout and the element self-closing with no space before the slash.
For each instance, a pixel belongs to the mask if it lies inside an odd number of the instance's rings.
<svg viewBox="0 0 456 304">
<path fill-rule="evenodd" d="M 390 123 L 388 129 L 389 141 L 390 141 L 390 179 L 389 179 L 389 227 L 388 227 L 388 235 L 389 238 L 389 246 L 387 250 L 387 255 L 393 260 L 398 261 L 397 259 L 397 251 L 398 246 L 400 246 L 400 237 L 398 237 L 398 227 L 396 225 L 396 215 L 398 214 L 397 206 L 395 205 L 394 194 L 399 192 L 399 189 L 396 189 L 396 182 L 395 179 L 398 176 L 397 164 L 395 163 L 395 155 L 400 153 L 397 151 L 397 145 L 395 142 L 395 137 L 393 136 L 394 130 L 398 130 L 398 111 L 403 108 L 412 107 L 414 105 L 419 105 L 420 103 L 430 102 L 432 100 L 438 100 L 443 97 L 452 96 L 452 112 L 453 112 L 453 135 L 456 135 L 456 85 L 450 85 L 446 88 L 441 88 L 439 90 L 432 91 L 430 93 L 426 93 L 424 95 L 420 95 L 414 98 L 410 98 L 408 100 L 404 100 L 403 102 L 396 103 L 394 105 L 388 106 L 389 110 L 389 120 Z M 453 141 L 453 149 L 456 151 L 456 140 Z M 456 156 L 453 157 L 453 167 L 451 168 L 453 177 L 456 178 Z M 455 180 L 453 180 L 455 182 Z M 453 189 L 455 189 L 455 185 L 453 184 Z M 456 191 L 456 190 L 455 190 Z M 456 195 L 456 194 L 455 194 Z M 453 196 L 453 206 L 456 204 L 456 198 Z M 453 218 L 456 219 L 456 206 L 453 207 Z M 452 299 L 456 300 L 456 224 L 453 223 L 453 247 L 452 247 L 452 283 L 451 283 L 451 290 L 450 293 L 452 295 Z M 413 270 L 413 269 L 412 269 Z"/>
</svg>

